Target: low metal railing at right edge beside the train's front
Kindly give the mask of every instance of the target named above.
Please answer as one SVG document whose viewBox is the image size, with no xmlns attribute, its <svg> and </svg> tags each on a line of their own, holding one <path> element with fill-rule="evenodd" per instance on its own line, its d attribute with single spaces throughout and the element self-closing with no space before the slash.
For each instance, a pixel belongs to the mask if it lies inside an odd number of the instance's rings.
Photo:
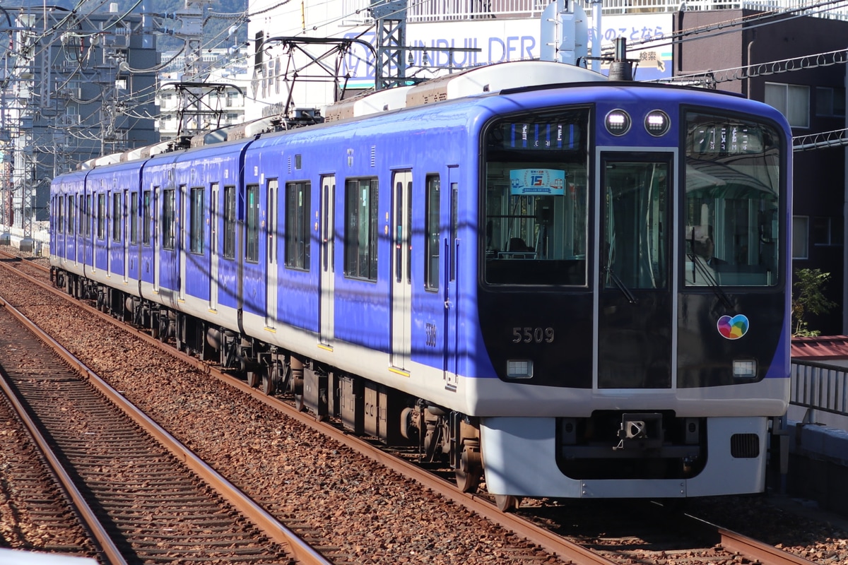
<svg viewBox="0 0 848 565">
<path fill-rule="evenodd" d="M 848 369 L 814 361 L 793 361 L 789 402 L 848 416 Z"/>
</svg>

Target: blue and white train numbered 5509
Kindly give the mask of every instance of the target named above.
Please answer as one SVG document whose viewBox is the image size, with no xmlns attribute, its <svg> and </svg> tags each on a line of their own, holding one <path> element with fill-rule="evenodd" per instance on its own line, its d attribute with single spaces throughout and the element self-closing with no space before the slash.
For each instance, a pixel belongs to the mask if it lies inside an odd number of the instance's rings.
<svg viewBox="0 0 848 565">
<path fill-rule="evenodd" d="M 63 174 L 53 277 L 504 510 L 758 492 L 791 154 L 759 102 L 500 64 Z"/>
</svg>

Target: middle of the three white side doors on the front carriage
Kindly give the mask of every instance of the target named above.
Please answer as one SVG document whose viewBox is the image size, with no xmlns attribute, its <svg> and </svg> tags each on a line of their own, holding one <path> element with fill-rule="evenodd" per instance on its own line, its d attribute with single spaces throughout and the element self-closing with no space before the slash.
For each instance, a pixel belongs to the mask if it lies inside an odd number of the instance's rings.
<svg viewBox="0 0 848 565">
<path fill-rule="evenodd" d="M 335 301 L 336 177 L 321 178 L 321 345 L 332 347 Z"/>
</svg>

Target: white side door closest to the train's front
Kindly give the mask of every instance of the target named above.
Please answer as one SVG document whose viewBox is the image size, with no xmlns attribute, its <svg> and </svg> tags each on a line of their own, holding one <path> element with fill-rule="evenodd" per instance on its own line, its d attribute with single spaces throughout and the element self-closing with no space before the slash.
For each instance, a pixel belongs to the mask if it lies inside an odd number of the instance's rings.
<svg viewBox="0 0 848 565">
<path fill-rule="evenodd" d="M 396 171 L 392 180 L 392 366 L 406 370 L 410 362 L 412 269 L 412 172 Z"/>
</svg>

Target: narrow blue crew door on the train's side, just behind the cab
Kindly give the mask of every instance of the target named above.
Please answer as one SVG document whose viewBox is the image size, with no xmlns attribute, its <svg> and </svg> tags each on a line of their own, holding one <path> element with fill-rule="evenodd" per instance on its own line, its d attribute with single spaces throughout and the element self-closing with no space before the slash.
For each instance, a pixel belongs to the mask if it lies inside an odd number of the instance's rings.
<svg viewBox="0 0 848 565">
<path fill-rule="evenodd" d="M 456 266 L 459 262 L 459 183 L 454 179 L 457 169 L 448 169 L 448 197 L 450 199 L 450 216 L 448 237 L 444 240 L 444 386 L 455 390 L 459 368 L 459 319 L 460 301 L 458 296 L 458 280 Z"/>
</svg>

